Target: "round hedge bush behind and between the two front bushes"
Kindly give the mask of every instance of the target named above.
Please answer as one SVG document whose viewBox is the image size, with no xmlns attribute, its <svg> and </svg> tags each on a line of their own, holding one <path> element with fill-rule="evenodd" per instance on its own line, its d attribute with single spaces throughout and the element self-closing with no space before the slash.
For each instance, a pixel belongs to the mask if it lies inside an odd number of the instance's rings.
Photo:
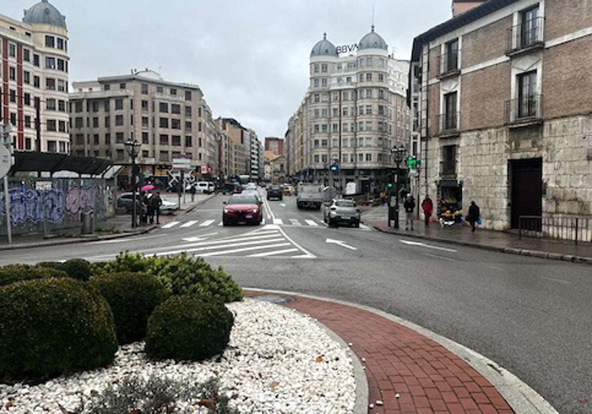
<svg viewBox="0 0 592 414">
<path fill-rule="evenodd" d="M 88 283 L 107 299 L 120 344 L 146 336 L 148 317 L 166 299 L 165 288 L 145 273 L 120 272 L 91 277 Z"/>
</svg>

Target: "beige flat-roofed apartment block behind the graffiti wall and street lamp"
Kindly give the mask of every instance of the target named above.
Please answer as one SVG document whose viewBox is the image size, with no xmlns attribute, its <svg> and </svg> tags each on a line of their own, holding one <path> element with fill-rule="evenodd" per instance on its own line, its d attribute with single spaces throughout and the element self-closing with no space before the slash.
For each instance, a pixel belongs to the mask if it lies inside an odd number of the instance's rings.
<svg viewBox="0 0 592 414">
<path fill-rule="evenodd" d="M 72 154 L 127 161 L 124 143 L 141 143 L 138 162 L 169 167 L 181 154 L 191 166 L 207 163 L 207 116 L 197 85 L 168 82 L 156 72 L 73 82 L 70 93 Z M 211 150 L 211 148 L 210 148 Z"/>
</svg>

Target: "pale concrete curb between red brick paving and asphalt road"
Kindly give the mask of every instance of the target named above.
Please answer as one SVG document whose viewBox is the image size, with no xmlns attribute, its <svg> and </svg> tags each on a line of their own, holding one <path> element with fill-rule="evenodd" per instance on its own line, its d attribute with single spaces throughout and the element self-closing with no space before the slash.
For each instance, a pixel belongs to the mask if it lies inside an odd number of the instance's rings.
<svg viewBox="0 0 592 414">
<path fill-rule="evenodd" d="M 514 412 L 520 414 L 559 414 L 557 410 L 551 406 L 551 404 L 549 404 L 542 396 L 540 396 L 539 393 L 537 393 L 514 374 L 510 373 L 510 371 L 507 371 L 505 368 L 501 367 L 494 361 L 465 347 L 464 345 L 459 344 L 458 342 L 452 341 L 452 339 L 438 335 L 436 332 L 423 328 L 423 326 L 416 325 L 413 322 L 409 322 L 406 319 L 391 315 L 390 313 L 384 312 L 380 309 L 371 308 L 370 306 L 358 305 L 357 303 L 346 302 L 339 299 L 329 299 L 326 297 L 306 295 L 304 293 L 285 292 L 282 290 L 267 290 L 256 287 L 243 287 L 243 289 L 307 297 L 309 299 L 339 303 L 341 305 L 351 306 L 353 308 L 372 312 L 375 315 L 382 316 L 383 318 L 392 322 L 406 326 L 406 328 L 424 335 L 424 337 L 432 339 L 433 341 L 445 347 L 447 350 L 451 351 L 453 354 L 457 355 L 459 358 L 462 358 L 462 360 L 466 361 L 469 366 L 478 371 L 478 373 L 484 376 L 485 379 L 487 379 L 496 388 L 496 390 L 514 410 Z"/>
</svg>

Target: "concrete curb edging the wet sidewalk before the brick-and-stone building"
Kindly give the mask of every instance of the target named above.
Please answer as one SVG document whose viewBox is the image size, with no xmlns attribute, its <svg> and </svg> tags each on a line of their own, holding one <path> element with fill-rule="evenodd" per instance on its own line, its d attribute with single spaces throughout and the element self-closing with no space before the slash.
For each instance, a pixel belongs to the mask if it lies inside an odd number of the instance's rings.
<svg viewBox="0 0 592 414">
<path fill-rule="evenodd" d="M 546 252 L 546 251 L 528 250 L 528 249 L 521 249 L 521 248 L 514 248 L 514 247 L 496 247 L 496 246 L 490 246 L 490 245 L 486 245 L 486 244 L 469 243 L 466 241 L 458 241 L 458 240 L 453 240 L 453 239 L 443 240 L 442 238 L 430 237 L 430 236 L 421 235 L 421 234 L 413 234 L 413 233 L 401 232 L 401 231 L 396 231 L 396 230 L 389 231 L 385 228 L 382 228 L 382 227 L 373 225 L 370 222 L 364 221 L 363 219 L 362 219 L 362 222 L 363 222 L 363 224 L 367 225 L 368 227 L 372 227 L 379 232 L 388 233 L 388 234 L 395 234 L 398 236 L 413 237 L 413 238 L 418 238 L 418 239 L 422 239 L 422 240 L 430 240 L 430 241 L 435 241 L 435 242 L 440 242 L 440 243 L 455 244 L 455 245 L 461 245 L 461 246 L 465 246 L 465 247 L 475 247 L 475 248 L 480 248 L 482 250 L 497 251 L 499 253 L 519 254 L 519 255 L 523 255 L 523 256 L 546 258 L 549 260 L 561 260 L 561 261 L 571 261 L 573 263 L 592 264 L 592 257 L 577 256 L 577 255 L 572 255 L 572 254 L 550 253 L 550 252 Z"/>
</svg>

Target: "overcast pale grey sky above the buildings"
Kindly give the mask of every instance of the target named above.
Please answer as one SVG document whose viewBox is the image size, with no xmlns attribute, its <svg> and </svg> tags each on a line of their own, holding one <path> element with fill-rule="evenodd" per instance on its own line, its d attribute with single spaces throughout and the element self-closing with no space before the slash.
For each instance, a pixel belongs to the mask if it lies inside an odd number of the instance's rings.
<svg viewBox="0 0 592 414">
<path fill-rule="evenodd" d="M 200 86 L 214 118 L 284 137 L 308 86 L 310 51 L 375 31 L 397 59 L 451 18 L 451 0 L 50 0 L 66 16 L 70 83 L 149 68 Z M 22 20 L 36 0 L 1 0 Z"/>
</svg>

